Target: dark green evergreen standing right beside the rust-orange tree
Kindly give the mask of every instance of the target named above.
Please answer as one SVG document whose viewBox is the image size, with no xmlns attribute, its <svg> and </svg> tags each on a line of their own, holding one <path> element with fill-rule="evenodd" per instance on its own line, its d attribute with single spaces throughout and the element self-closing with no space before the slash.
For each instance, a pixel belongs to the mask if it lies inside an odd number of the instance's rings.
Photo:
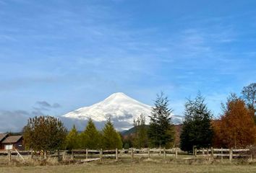
<svg viewBox="0 0 256 173">
<path fill-rule="evenodd" d="M 200 93 L 195 99 L 187 99 L 184 116 L 180 137 L 182 150 L 190 152 L 193 150 L 193 146 L 197 148 L 211 146 L 213 138 L 213 128 L 210 124 L 212 113 L 208 110 L 205 99 Z"/>
</svg>

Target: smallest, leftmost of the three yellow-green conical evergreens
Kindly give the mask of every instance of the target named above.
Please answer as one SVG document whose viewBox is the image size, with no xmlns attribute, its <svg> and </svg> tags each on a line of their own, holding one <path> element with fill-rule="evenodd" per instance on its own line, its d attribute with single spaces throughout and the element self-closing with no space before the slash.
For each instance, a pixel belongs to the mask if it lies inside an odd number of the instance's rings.
<svg viewBox="0 0 256 173">
<path fill-rule="evenodd" d="M 67 149 L 72 150 L 79 148 L 79 142 L 77 128 L 73 125 L 72 130 L 70 130 L 66 138 Z"/>
</svg>

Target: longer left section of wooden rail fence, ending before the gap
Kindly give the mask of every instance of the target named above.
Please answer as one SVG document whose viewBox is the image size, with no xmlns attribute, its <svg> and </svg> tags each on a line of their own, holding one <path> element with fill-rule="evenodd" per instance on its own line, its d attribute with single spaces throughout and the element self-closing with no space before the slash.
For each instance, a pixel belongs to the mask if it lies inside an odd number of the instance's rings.
<svg viewBox="0 0 256 173">
<path fill-rule="evenodd" d="M 182 153 L 179 148 L 129 148 L 129 149 L 114 149 L 114 150 L 72 150 L 72 151 L 56 151 L 51 153 L 43 153 L 40 151 L 0 151 L 0 157 L 7 158 L 8 161 L 14 159 L 25 160 L 30 159 L 46 159 L 47 157 L 56 157 L 59 160 L 69 160 L 69 159 L 85 159 L 84 161 L 90 160 L 103 160 L 103 159 L 116 159 L 119 158 L 150 158 L 157 157 L 165 159 L 168 157 L 178 158 L 178 153 Z"/>
</svg>

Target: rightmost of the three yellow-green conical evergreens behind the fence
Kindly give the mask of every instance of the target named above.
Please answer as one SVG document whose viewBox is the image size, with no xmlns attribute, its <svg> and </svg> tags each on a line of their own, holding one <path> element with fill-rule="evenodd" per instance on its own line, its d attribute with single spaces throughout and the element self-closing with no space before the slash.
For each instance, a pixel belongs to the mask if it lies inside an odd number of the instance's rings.
<svg viewBox="0 0 256 173">
<path fill-rule="evenodd" d="M 113 123 L 111 123 L 111 119 L 108 118 L 104 128 L 103 128 L 103 148 L 104 149 L 115 149 L 122 148 L 123 143 L 121 141 L 121 136 L 114 129 Z"/>
</svg>

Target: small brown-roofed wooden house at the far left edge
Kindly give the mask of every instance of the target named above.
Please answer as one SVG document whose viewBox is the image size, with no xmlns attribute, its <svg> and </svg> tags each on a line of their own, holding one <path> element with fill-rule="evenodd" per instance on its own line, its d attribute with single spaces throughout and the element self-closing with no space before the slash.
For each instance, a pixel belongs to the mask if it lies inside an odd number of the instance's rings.
<svg viewBox="0 0 256 173">
<path fill-rule="evenodd" d="M 25 150 L 22 136 L 9 136 L 8 134 L 0 134 L 0 147 L 1 150 Z"/>
</svg>

